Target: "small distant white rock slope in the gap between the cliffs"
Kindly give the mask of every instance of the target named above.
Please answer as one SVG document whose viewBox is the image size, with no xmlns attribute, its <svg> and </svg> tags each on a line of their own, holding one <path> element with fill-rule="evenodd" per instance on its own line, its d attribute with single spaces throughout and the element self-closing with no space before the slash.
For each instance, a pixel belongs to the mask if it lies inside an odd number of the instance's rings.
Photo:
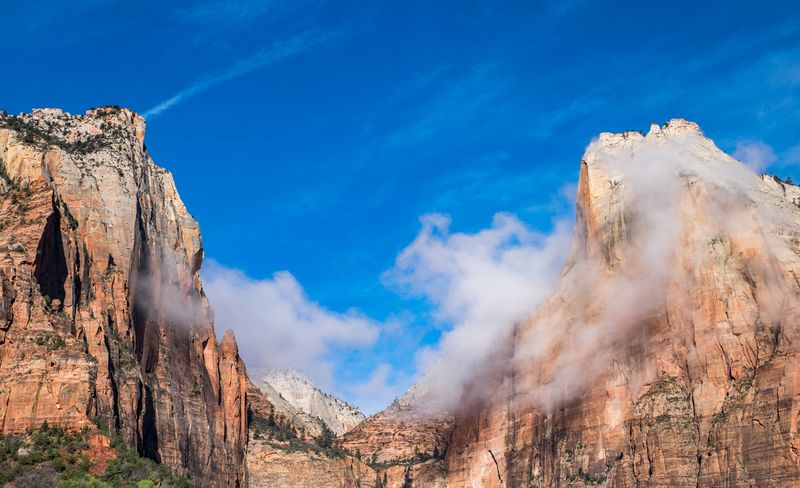
<svg viewBox="0 0 800 488">
<path fill-rule="evenodd" d="M 348 432 L 365 419 L 358 408 L 323 392 L 307 376 L 295 369 L 270 371 L 262 377 L 259 387 L 268 396 L 268 391 L 274 390 L 297 410 L 321 420 L 337 436 Z"/>
</svg>

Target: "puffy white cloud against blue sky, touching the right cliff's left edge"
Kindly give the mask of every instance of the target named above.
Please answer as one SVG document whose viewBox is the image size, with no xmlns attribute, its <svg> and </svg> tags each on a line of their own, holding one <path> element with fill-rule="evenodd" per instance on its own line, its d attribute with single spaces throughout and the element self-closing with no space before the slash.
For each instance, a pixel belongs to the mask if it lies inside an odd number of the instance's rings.
<svg viewBox="0 0 800 488">
<path fill-rule="evenodd" d="M 509 214 L 474 234 L 451 233 L 441 214 L 422 218 L 417 238 L 397 257 L 385 281 L 426 297 L 446 328 L 439 344 L 419 354 L 432 408 L 463 399 L 476 371 L 506 346 L 515 324 L 549 292 L 569 249 L 571 226 L 539 234 Z"/>
</svg>

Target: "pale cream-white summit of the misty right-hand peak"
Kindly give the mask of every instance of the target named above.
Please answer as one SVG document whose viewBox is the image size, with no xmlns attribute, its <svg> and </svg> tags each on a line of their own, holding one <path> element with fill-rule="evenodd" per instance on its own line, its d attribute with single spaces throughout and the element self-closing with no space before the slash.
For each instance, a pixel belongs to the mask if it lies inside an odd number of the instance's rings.
<svg viewBox="0 0 800 488">
<path fill-rule="evenodd" d="M 759 183 L 755 174 L 706 138 L 697 124 L 683 119 L 661 127 L 654 124 L 647 135 L 603 133 L 582 158 L 576 244 L 614 265 L 625 250 L 640 251 L 626 242 L 631 232 L 666 231 L 678 225 L 689 207 L 696 206 L 691 199 L 747 206 L 771 198 Z M 653 243 L 645 239 L 637 244 Z"/>
</svg>

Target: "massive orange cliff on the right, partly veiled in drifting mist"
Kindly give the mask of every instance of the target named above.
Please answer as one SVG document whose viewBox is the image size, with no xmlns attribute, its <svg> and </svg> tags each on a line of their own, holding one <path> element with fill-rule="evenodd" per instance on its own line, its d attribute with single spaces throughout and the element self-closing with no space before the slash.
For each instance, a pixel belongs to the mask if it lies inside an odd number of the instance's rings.
<svg viewBox="0 0 800 488">
<path fill-rule="evenodd" d="M 552 295 L 456 417 L 449 486 L 800 485 L 799 190 L 684 120 L 601 134 Z"/>
</svg>

